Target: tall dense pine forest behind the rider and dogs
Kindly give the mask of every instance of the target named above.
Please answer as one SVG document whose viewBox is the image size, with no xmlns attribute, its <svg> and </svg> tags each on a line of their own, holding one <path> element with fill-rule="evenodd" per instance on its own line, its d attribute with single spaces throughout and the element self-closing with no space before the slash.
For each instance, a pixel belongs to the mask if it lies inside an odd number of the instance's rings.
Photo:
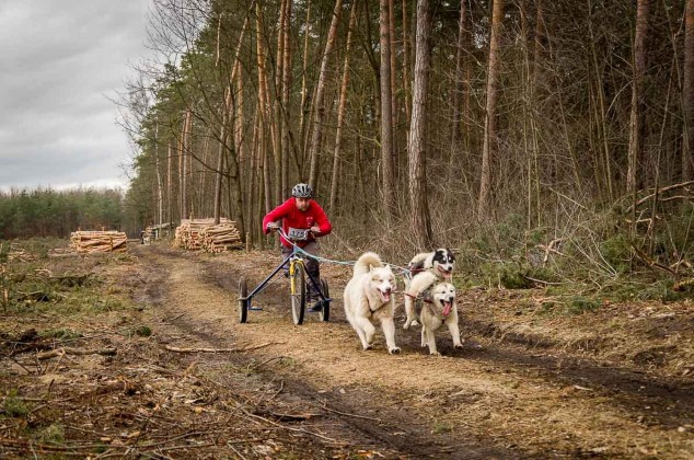
<svg viewBox="0 0 694 460">
<path fill-rule="evenodd" d="M 149 24 L 122 101 L 143 221 L 262 245 L 303 181 L 335 251 L 686 265 L 694 1 L 155 0 Z"/>
</svg>

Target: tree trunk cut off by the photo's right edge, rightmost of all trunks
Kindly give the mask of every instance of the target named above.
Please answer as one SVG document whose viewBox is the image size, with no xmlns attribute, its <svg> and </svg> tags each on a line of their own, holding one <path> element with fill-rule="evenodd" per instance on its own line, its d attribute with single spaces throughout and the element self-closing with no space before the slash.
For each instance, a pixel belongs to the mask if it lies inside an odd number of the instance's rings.
<svg viewBox="0 0 694 460">
<path fill-rule="evenodd" d="M 684 13 L 684 146 L 682 149 L 682 180 L 694 179 L 694 0 L 686 0 Z"/>
</svg>

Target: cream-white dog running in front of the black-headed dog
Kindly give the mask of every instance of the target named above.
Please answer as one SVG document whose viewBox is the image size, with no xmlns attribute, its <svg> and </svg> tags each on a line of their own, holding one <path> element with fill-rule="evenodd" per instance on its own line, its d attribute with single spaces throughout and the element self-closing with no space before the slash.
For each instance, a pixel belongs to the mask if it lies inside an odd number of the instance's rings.
<svg viewBox="0 0 694 460">
<path fill-rule="evenodd" d="M 421 306 L 421 346 L 429 346 L 429 355 L 440 355 L 436 349 L 436 331 L 442 324 L 448 326 L 453 346 L 462 348 L 458 327 L 458 308 L 455 307 L 455 287 L 450 283 L 438 283 L 425 292 L 424 299 L 416 302 Z M 419 310 L 419 309 L 417 309 Z"/>
</svg>

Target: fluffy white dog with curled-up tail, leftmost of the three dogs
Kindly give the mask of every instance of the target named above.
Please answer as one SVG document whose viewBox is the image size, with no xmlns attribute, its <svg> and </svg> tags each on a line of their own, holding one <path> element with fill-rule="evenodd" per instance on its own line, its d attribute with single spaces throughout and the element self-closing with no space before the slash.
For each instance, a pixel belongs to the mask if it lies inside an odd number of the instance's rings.
<svg viewBox="0 0 694 460">
<path fill-rule="evenodd" d="M 363 253 L 355 264 L 355 274 L 345 287 L 345 315 L 357 331 L 363 349 L 373 345 L 375 327 L 380 320 L 385 344 L 391 354 L 400 353 L 395 346 L 395 276 L 373 252 Z"/>
</svg>

